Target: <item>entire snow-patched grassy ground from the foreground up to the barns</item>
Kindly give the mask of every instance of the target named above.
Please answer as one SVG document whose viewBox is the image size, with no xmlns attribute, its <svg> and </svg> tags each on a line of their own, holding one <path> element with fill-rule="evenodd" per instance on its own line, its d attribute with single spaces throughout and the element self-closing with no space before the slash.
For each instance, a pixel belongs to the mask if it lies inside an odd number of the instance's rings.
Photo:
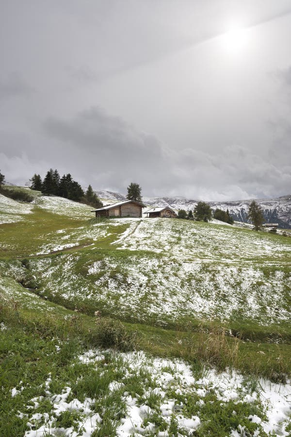
<svg viewBox="0 0 291 437">
<path fill-rule="evenodd" d="M 0 195 L 0 435 L 288 435 L 290 238 L 32 194 Z"/>
</svg>

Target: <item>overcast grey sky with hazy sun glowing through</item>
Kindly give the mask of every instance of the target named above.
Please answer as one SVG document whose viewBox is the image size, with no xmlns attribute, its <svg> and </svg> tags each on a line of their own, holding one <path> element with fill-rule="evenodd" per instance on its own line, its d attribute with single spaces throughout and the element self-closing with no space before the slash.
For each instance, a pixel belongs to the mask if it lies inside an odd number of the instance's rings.
<svg viewBox="0 0 291 437">
<path fill-rule="evenodd" d="M 0 0 L 0 171 L 291 194 L 291 0 Z"/>
</svg>

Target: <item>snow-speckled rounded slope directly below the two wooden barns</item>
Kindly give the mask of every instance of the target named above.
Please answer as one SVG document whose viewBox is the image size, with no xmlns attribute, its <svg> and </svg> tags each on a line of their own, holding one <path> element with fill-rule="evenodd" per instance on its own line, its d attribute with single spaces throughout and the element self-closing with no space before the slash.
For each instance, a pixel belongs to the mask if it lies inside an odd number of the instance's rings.
<svg viewBox="0 0 291 437">
<path fill-rule="evenodd" d="M 110 250 L 98 251 L 98 241 L 120 224 L 127 228 Z M 30 261 L 42 296 L 159 324 L 195 317 L 269 325 L 291 317 L 288 238 L 218 224 L 120 219 L 60 231 L 59 246 L 41 253 L 78 245 L 84 236 L 92 241 L 85 252 Z"/>
</svg>

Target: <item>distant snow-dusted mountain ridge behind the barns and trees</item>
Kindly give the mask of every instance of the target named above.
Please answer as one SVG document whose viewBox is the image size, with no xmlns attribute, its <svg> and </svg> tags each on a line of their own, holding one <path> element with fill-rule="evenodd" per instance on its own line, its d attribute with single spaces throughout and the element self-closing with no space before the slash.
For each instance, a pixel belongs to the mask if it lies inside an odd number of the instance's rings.
<svg viewBox="0 0 291 437">
<path fill-rule="evenodd" d="M 97 190 L 99 198 L 108 203 L 120 202 L 126 197 L 120 193 L 107 190 Z M 247 211 L 249 204 L 254 199 L 225 201 L 225 202 L 207 202 L 215 210 L 220 208 L 224 211 L 228 209 L 229 214 L 234 220 L 247 222 Z M 280 228 L 291 228 L 291 195 L 281 196 L 275 199 L 255 199 L 261 206 L 266 223 L 279 223 Z M 198 200 L 186 199 L 180 196 L 173 197 L 143 197 L 143 202 L 149 206 L 170 205 L 173 209 L 185 209 L 186 211 L 194 209 Z"/>
</svg>

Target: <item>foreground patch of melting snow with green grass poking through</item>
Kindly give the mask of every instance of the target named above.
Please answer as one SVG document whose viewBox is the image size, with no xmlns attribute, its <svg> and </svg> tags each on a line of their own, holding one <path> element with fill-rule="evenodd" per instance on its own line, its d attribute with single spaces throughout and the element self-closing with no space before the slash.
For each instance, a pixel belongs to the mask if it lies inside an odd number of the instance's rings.
<svg viewBox="0 0 291 437">
<path fill-rule="evenodd" d="M 290 382 L 282 386 L 234 370 L 194 372 L 181 360 L 150 358 L 142 352 L 97 349 L 81 354 L 78 360 L 83 368 L 93 370 L 93 387 L 98 378 L 102 380 L 102 392 L 94 397 L 93 388 L 93 397 L 80 397 L 80 376 L 55 393 L 49 374 L 43 383 L 44 394 L 32 397 L 26 408 L 18 411 L 30 428 L 26 437 L 103 436 L 108 420 L 110 435 L 119 437 L 214 435 L 211 420 L 216 423 L 217 435 L 290 435 Z M 11 389 L 11 396 L 21 396 L 23 390 L 20 382 Z M 113 414 L 107 411 L 108 402 Z M 41 412 L 44 403 L 50 404 L 49 413 Z M 65 414 L 71 417 L 68 427 L 60 426 Z"/>
</svg>

